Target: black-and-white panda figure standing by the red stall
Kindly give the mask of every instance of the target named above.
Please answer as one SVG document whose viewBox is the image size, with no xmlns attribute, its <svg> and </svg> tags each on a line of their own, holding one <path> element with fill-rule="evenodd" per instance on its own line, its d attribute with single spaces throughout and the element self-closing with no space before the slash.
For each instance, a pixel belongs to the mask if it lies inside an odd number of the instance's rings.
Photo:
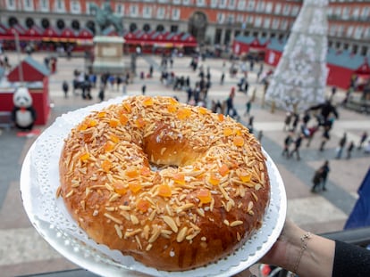
<svg viewBox="0 0 370 277">
<path fill-rule="evenodd" d="M 26 87 L 16 90 L 13 94 L 13 104 L 12 120 L 15 126 L 23 131 L 31 131 L 37 115 L 32 106 L 32 97 Z"/>
</svg>

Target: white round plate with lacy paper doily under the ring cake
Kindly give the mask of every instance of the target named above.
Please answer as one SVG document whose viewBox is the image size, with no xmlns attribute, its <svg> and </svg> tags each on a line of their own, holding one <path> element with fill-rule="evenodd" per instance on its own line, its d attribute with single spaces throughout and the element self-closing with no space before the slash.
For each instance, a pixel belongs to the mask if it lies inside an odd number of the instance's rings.
<svg viewBox="0 0 370 277">
<path fill-rule="evenodd" d="M 21 169 L 21 197 L 31 223 L 41 236 L 60 254 L 76 265 L 103 276 L 231 276 L 254 265 L 273 246 L 282 232 L 287 200 L 282 177 L 273 160 L 267 157 L 271 182 L 271 199 L 262 227 L 231 256 L 217 263 L 185 272 L 164 272 L 147 267 L 121 252 L 97 245 L 71 218 L 61 198 L 56 199 L 59 186 L 59 158 L 63 140 L 93 110 L 121 102 L 111 99 L 56 118 L 29 149 Z"/>
</svg>

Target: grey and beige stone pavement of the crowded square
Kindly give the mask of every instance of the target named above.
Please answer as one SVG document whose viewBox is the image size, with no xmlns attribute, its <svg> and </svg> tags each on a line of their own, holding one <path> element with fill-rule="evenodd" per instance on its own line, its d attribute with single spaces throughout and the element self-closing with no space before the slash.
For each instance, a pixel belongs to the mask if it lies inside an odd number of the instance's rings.
<svg viewBox="0 0 370 277">
<path fill-rule="evenodd" d="M 40 62 L 43 54 L 35 54 L 34 58 Z M 13 53 L 9 54 L 11 63 L 17 61 Z M 183 91 L 173 91 L 172 87 L 164 86 L 159 81 L 158 70 L 160 59 L 156 56 L 139 57 L 137 70 L 148 71 L 149 64 L 154 65 L 154 77 L 144 80 L 135 77 L 133 83 L 127 86 L 129 95 L 141 94 L 143 83 L 147 85 L 147 95 L 176 95 L 181 102 L 185 102 L 187 95 Z M 127 62 L 130 64 L 130 61 Z M 198 79 L 198 72 L 189 68 L 190 58 L 177 58 L 172 71 L 178 76 L 189 76 L 191 85 Z M 97 90 L 93 90 L 93 100 L 82 100 L 80 95 L 63 98 L 62 82 L 72 79 L 73 69 L 84 69 L 84 61 L 73 58 L 67 61 L 58 60 L 57 72 L 50 77 L 50 100 L 53 106 L 49 124 L 55 118 L 69 110 L 76 110 L 97 101 Z M 227 67 L 230 64 L 227 61 Z M 226 74 L 223 85 L 219 84 L 223 72 L 223 61 L 208 59 L 204 61 L 205 69 L 210 68 L 212 87 L 208 101 L 225 100 L 236 86 L 240 75 L 230 77 Z M 266 67 L 265 67 L 266 68 Z M 288 198 L 288 217 L 294 222 L 307 228 L 311 232 L 332 232 L 343 228 L 356 200 L 357 188 L 362 182 L 369 167 L 369 157 L 363 151 L 355 150 L 351 159 L 334 159 L 335 148 L 341 135 L 346 132 L 349 140 L 359 141 L 359 135 L 364 130 L 370 131 L 370 118 L 349 110 L 339 108 L 340 118 L 334 122 L 332 137 L 327 143 L 325 151 L 318 151 L 321 134 L 316 134 L 311 146 L 303 144 L 301 159 L 286 159 L 282 157 L 282 143 L 286 133 L 283 131 L 285 112 L 274 110 L 263 105 L 263 87 L 256 84 L 256 72 L 249 72 L 250 83 L 248 95 L 256 89 L 256 100 L 252 104 L 251 115 L 255 117 L 255 134 L 263 131 L 262 145 L 279 168 L 284 180 Z M 330 89 L 328 88 L 328 93 Z M 122 92 L 110 88 L 106 91 L 106 99 L 122 95 Z M 341 102 L 343 92 L 335 95 L 335 102 Z M 248 117 L 244 117 L 247 96 L 237 93 L 235 106 L 240 114 L 240 122 L 247 125 Z M 263 107 L 264 106 L 264 107 Z M 46 126 L 37 126 L 41 131 Z M 38 235 L 29 223 L 21 203 L 20 172 L 22 161 L 32 143 L 37 137 L 19 137 L 17 130 L 0 131 L 0 275 L 17 276 L 32 273 L 47 273 L 77 268 L 77 265 L 58 254 L 45 240 Z M 312 193 L 311 179 L 317 167 L 330 160 L 331 172 L 327 183 L 327 191 Z"/>
</svg>

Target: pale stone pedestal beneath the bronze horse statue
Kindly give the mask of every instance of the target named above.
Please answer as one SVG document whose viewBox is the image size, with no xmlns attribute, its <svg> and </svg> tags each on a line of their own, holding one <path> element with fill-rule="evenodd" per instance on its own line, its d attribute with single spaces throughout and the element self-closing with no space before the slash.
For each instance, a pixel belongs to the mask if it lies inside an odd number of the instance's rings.
<svg viewBox="0 0 370 277">
<path fill-rule="evenodd" d="M 92 70 L 96 74 L 123 74 L 123 37 L 97 36 L 94 42 L 94 62 Z"/>
</svg>

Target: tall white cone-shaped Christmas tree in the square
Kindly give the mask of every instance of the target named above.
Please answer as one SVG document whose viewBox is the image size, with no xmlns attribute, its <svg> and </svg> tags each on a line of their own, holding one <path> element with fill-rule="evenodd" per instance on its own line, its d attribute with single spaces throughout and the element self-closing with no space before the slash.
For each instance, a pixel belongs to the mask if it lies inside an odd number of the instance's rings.
<svg viewBox="0 0 370 277">
<path fill-rule="evenodd" d="M 324 102 L 327 53 L 327 0 L 305 0 L 290 31 L 266 100 L 298 112 Z"/>
</svg>

